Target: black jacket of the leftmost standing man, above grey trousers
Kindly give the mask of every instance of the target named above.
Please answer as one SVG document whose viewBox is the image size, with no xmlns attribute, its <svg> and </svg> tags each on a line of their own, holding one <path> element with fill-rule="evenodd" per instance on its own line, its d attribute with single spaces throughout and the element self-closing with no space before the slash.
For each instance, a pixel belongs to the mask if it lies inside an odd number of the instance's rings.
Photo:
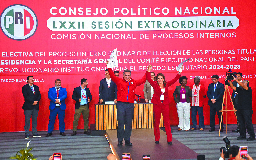
<svg viewBox="0 0 256 160">
<path fill-rule="evenodd" d="M 22 94 L 24 97 L 24 104 L 22 106 L 22 108 L 24 110 L 33 110 L 34 108 L 36 110 L 39 110 L 39 101 L 41 99 L 41 93 L 39 91 L 39 87 L 34 85 L 34 90 L 35 90 L 35 95 L 33 94 L 32 89 L 30 88 L 29 84 L 26 84 L 24 86 L 22 86 Z M 34 101 L 38 101 L 36 105 L 32 105 L 34 103 Z"/>
</svg>

